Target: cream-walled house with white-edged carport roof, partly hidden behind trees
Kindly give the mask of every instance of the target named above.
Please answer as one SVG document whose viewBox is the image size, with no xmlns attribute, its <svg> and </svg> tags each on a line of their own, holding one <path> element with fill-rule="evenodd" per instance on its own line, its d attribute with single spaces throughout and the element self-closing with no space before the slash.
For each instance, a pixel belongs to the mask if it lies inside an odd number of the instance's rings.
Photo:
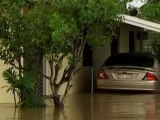
<svg viewBox="0 0 160 120">
<path fill-rule="evenodd" d="M 89 47 L 86 47 L 83 53 L 83 57 L 86 58 L 81 63 L 82 69 L 80 72 L 73 78 L 76 79 L 73 81 L 73 88 L 71 92 L 78 91 L 91 91 L 95 85 L 95 76 L 98 68 L 103 63 L 103 61 L 110 55 L 118 52 L 139 52 L 145 50 L 145 44 L 147 43 L 147 30 L 160 32 L 160 24 L 143 20 L 137 17 L 124 15 L 123 23 L 119 28 L 119 36 L 114 38 L 112 43 L 102 47 L 102 48 L 93 48 L 92 50 Z M 46 61 L 43 61 L 45 68 L 44 72 L 48 72 L 48 65 Z M 7 86 L 2 72 L 6 69 L 6 65 L 3 64 L 3 61 L 0 61 L 0 103 L 13 103 L 14 99 L 11 93 L 7 93 L 7 88 L 2 88 Z M 63 91 L 63 90 L 62 90 Z M 49 94 L 49 83 L 43 82 L 43 93 Z"/>
</svg>

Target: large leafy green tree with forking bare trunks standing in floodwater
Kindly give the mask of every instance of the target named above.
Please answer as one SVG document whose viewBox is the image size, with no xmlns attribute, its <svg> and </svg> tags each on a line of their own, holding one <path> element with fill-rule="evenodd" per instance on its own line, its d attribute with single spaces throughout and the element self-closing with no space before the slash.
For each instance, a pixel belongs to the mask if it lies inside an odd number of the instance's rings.
<svg viewBox="0 0 160 120">
<path fill-rule="evenodd" d="M 21 14 L 22 8 L 29 9 L 27 14 Z M 50 97 L 60 106 L 72 86 L 85 44 L 109 43 L 122 19 L 123 6 L 117 0 L 1 0 L 0 10 L 0 58 L 18 68 L 23 78 L 27 68 L 21 58 L 29 56 L 33 62 L 33 56 L 40 53 L 50 66 L 50 74 L 43 73 L 50 83 Z M 59 89 L 65 83 L 61 98 Z"/>
</svg>

